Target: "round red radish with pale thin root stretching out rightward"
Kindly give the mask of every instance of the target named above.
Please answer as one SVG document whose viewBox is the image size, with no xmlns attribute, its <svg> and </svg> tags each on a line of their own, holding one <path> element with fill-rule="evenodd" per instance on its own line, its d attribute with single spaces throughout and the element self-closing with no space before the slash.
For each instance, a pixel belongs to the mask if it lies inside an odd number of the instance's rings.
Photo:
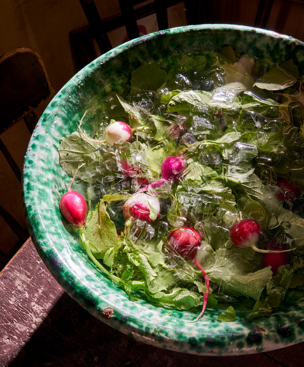
<svg viewBox="0 0 304 367">
<path fill-rule="evenodd" d="M 263 234 L 261 226 L 253 219 L 242 219 L 230 229 L 231 241 L 237 247 L 251 247 L 254 251 L 262 252 L 264 254 L 277 252 L 276 250 L 261 250 L 260 248 L 256 247 L 261 234 Z M 287 251 L 291 250 L 284 250 L 280 252 Z"/>
</svg>

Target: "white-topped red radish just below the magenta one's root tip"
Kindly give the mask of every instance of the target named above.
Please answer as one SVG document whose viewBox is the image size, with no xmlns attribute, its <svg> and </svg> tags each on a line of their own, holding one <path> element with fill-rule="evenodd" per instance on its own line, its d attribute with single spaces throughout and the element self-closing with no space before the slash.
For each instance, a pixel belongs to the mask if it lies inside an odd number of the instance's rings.
<svg viewBox="0 0 304 367">
<path fill-rule="evenodd" d="M 123 205 L 123 216 L 126 220 L 133 217 L 152 223 L 159 217 L 159 213 L 158 198 L 142 192 L 133 194 Z"/>
</svg>

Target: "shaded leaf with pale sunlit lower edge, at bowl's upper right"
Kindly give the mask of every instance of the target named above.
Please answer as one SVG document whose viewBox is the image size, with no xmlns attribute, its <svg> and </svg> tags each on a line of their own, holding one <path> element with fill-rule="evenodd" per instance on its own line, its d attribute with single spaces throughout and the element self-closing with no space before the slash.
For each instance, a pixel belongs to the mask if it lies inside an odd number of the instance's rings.
<svg viewBox="0 0 304 367">
<path fill-rule="evenodd" d="M 292 60 L 275 66 L 262 75 L 254 86 L 266 90 L 281 90 L 292 86 L 299 77 L 298 67 Z"/>
</svg>

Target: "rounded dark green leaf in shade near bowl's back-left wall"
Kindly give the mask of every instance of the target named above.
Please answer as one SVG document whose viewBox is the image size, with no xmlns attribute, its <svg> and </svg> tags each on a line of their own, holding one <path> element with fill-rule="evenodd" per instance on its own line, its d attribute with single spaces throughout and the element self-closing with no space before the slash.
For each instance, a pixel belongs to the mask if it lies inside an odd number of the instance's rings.
<svg viewBox="0 0 304 367">
<path fill-rule="evenodd" d="M 157 65 L 141 65 L 131 78 L 131 94 L 134 90 L 156 92 L 167 80 L 167 73 Z"/>
</svg>

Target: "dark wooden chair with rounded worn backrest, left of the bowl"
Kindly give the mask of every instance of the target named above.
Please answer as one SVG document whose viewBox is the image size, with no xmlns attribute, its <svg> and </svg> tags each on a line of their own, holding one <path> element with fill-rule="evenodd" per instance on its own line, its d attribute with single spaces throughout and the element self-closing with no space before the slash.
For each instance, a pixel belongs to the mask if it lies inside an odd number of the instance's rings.
<svg viewBox="0 0 304 367">
<path fill-rule="evenodd" d="M 53 92 L 37 52 L 29 48 L 16 48 L 0 57 L 0 149 L 20 184 L 21 170 L 4 145 L 1 134 L 21 119 L 32 133 L 38 122 L 34 109 Z M 21 244 L 28 239 L 28 231 L 1 204 L 1 197 L 0 215 L 19 237 Z M 7 256 L 0 251 L 0 263 L 6 260 Z"/>
</svg>

